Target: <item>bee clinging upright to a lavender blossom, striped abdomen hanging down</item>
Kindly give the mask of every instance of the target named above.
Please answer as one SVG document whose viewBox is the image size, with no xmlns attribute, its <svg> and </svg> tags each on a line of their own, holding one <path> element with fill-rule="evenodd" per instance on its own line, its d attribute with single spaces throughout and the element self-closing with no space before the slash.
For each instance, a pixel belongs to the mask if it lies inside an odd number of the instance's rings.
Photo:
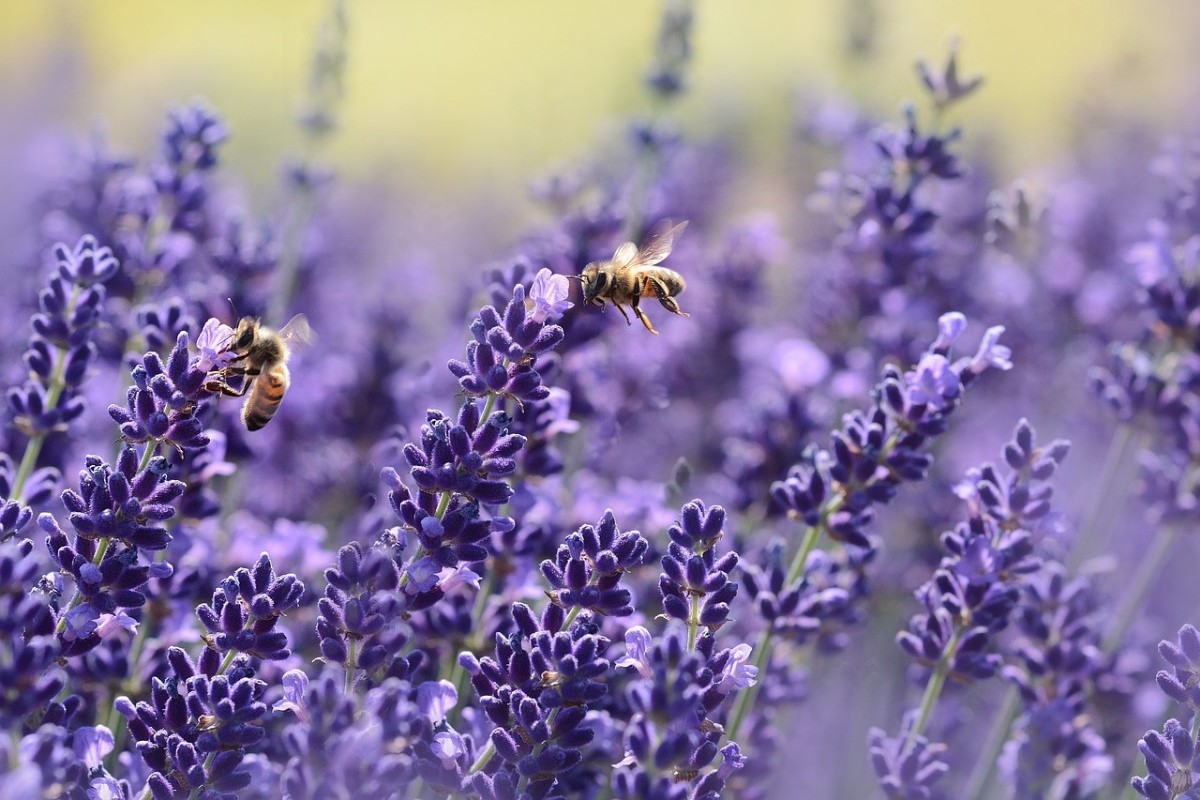
<svg viewBox="0 0 1200 800">
<path fill-rule="evenodd" d="M 247 431 L 258 431 L 275 416 L 292 385 L 288 371 L 292 348 L 310 342 L 312 329 L 304 314 L 296 314 L 277 331 L 254 317 L 242 317 L 229 341 L 228 350 L 236 354 L 233 365 L 217 380 L 209 381 L 208 389 L 229 397 L 245 396 L 241 421 Z M 240 389 L 226 383 L 229 375 L 242 377 Z"/>
</svg>

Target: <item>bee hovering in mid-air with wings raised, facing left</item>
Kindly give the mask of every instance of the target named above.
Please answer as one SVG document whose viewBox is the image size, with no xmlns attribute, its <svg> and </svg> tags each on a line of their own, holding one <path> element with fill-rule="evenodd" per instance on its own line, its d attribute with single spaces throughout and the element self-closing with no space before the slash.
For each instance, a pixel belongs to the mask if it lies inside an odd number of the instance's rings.
<svg viewBox="0 0 1200 800">
<path fill-rule="evenodd" d="M 607 300 L 632 325 L 624 308 L 628 305 L 646 325 L 646 330 L 655 336 L 659 332 L 638 307 L 642 297 L 656 297 L 672 314 L 688 317 L 674 299 L 688 284 L 674 270 L 659 266 L 671 254 L 671 245 L 686 225 L 686 219 L 678 224 L 664 219 L 654 227 L 641 247 L 628 241 L 617 248 L 611 261 L 588 264 L 578 276 L 583 285 L 583 302 L 604 308 L 604 301 Z"/>
</svg>

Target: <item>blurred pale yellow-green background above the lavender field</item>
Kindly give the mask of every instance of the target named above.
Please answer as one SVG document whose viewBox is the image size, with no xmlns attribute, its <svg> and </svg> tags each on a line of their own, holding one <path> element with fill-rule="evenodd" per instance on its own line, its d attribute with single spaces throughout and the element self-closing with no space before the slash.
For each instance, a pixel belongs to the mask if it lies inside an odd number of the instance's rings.
<svg viewBox="0 0 1200 800">
<path fill-rule="evenodd" d="M 878 13 L 878 49 L 845 58 L 846 18 Z M 660 4 L 650 0 L 349 0 L 344 179 L 419 181 L 452 194 L 526 179 L 616 137 L 644 108 Z M 0 112 L 131 151 L 164 109 L 203 96 L 252 186 L 294 150 L 292 125 L 325 0 L 29 0 L 0 7 Z M 1081 102 L 1186 126 L 1196 97 L 1189 0 L 700 0 L 685 130 L 736 126 L 772 163 L 805 85 L 838 86 L 892 114 L 916 95 L 918 56 L 964 42 L 988 77 L 959 121 L 1003 143 L 1020 174 L 1069 149 Z"/>
</svg>

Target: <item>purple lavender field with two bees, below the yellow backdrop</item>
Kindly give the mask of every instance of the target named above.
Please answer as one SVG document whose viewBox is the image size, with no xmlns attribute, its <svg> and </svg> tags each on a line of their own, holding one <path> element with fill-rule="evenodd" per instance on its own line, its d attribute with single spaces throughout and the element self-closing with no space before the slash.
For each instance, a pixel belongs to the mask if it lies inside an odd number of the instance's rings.
<svg viewBox="0 0 1200 800">
<path fill-rule="evenodd" d="M 0 800 L 1200 799 L 1200 145 L 1000 182 L 967 42 L 730 215 L 662 7 L 484 263 L 186 95 L 0 221 Z"/>
</svg>

